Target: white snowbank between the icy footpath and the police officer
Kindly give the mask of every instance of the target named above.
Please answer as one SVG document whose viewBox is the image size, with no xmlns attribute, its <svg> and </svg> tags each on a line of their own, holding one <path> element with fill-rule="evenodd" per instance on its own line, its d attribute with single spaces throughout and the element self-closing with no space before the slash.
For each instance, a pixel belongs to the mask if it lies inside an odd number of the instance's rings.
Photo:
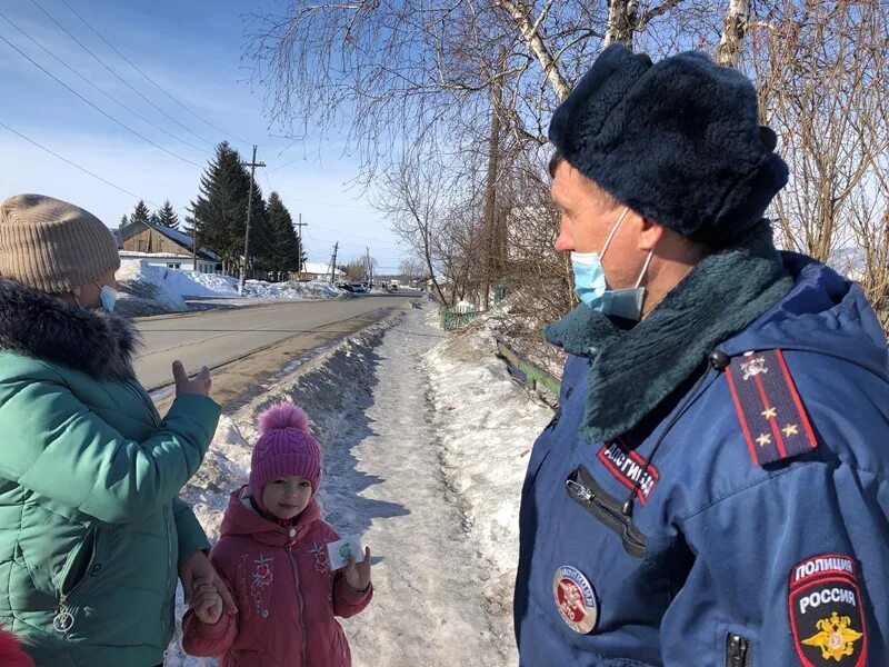
<svg viewBox="0 0 889 667">
<path fill-rule="evenodd" d="M 470 540 L 490 564 L 489 610 L 511 627 L 521 487 L 553 411 L 511 379 L 493 350 L 489 329 L 477 327 L 436 347 L 426 365 L 444 475 L 462 497 Z"/>
</svg>

